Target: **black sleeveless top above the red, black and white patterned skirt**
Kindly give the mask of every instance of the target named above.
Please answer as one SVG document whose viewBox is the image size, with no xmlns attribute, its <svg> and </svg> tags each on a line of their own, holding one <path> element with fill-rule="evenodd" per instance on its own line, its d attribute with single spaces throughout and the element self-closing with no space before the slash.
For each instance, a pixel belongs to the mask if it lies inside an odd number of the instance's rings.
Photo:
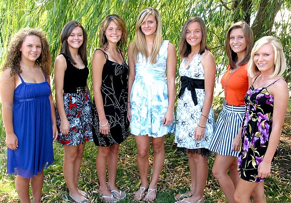
<svg viewBox="0 0 291 203">
<path fill-rule="evenodd" d="M 64 93 L 72 93 L 80 88 L 84 89 L 87 86 L 87 78 L 89 69 L 87 66 L 80 69 L 74 66 L 65 53 L 61 53 L 65 57 L 67 67 L 64 76 Z M 77 93 L 77 91 L 76 91 Z"/>
</svg>

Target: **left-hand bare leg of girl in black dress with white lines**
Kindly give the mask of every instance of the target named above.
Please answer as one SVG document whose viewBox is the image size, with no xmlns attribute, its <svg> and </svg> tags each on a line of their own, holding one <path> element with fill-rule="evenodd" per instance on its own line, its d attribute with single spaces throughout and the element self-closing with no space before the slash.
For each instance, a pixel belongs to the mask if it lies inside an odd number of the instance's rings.
<svg viewBox="0 0 291 203">
<path fill-rule="evenodd" d="M 98 154 L 96 158 L 96 169 L 100 183 L 99 191 L 102 196 L 111 197 L 111 192 L 106 183 L 107 160 L 109 158 L 111 147 L 98 146 Z M 109 166 L 108 166 L 109 167 Z M 116 170 L 115 170 L 116 172 Z M 107 201 L 112 201 L 111 198 L 105 198 Z"/>
</svg>

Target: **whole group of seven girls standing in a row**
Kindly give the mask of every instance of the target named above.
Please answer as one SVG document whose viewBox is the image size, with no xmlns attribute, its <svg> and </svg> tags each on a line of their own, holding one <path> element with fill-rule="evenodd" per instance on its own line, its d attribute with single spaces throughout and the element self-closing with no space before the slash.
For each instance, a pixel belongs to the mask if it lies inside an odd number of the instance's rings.
<svg viewBox="0 0 291 203">
<path fill-rule="evenodd" d="M 63 172 L 73 202 L 90 203 L 90 194 L 78 187 L 86 141 L 98 146 L 101 198 L 105 202 L 124 199 L 126 193 L 115 186 L 115 175 L 119 145 L 129 136 L 130 123 L 141 178 L 136 200 L 156 199 L 165 135 L 176 130 L 175 142 L 189 157 L 192 185 L 188 193 L 175 197 L 178 203 L 205 201 L 210 151 L 217 153 L 212 172 L 228 202 L 249 202 L 251 197 L 254 202 L 266 202 L 263 179 L 270 174 L 289 97 L 282 78 L 286 62 L 281 43 L 274 37 L 263 37 L 252 49 L 253 34 L 245 22 L 228 30 L 229 65 L 221 80 L 226 99 L 214 128 L 211 104 L 216 64 L 200 17 L 189 18 L 182 28 L 176 122 L 177 56 L 174 45 L 162 40 L 158 11 L 147 7 L 138 16 L 135 40 L 128 47 L 128 64 L 123 51 L 128 36 L 123 19 L 106 16 L 99 28 L 100 47 L 92 60 L 92 103 L 87 85 L 87 34 L 79 22 L 68 22 L 61 32 L 62 48 L 54 67 L 55 106 L 49 80 L 51 57 L 44 34 L 24 29 L 11 40 L 0 94 L 7 172 L 16 174 L 20 201 L 30 203 L 30 184 L 33 202 L 41 201 L 43 170 L 54 161 L 55 140 L 64 145 Z M 148 183 L 150 145 L 154 156 Z"/>
</svg>

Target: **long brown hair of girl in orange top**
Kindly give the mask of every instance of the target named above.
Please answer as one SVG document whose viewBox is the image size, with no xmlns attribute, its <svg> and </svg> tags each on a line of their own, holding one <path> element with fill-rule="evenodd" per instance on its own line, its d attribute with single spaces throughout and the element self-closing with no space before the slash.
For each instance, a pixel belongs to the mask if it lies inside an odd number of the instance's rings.
<svg viewBox="0 0 291 203">
<path fill-rule="evenodd" d="M 245 49 L 245 57 L 241 62 L 238 63 L 238 66 L 241 66 L 250 60 L 251 50 L 254 45 L 253 31 L 245 21 L 238 21 L 228 29 L 227 34 L 226 34 L 226 55 L 227 55 L 228 63 L 231 69 L 236 68 L 235 64 L 238 61 L 238 55 L 231 49 L 229 45 L 230 32 L 232 30 L 240 29 L 240 28 L 242 29 L 244 37 L 245 37 L 246 49 Z"/>
</svg>

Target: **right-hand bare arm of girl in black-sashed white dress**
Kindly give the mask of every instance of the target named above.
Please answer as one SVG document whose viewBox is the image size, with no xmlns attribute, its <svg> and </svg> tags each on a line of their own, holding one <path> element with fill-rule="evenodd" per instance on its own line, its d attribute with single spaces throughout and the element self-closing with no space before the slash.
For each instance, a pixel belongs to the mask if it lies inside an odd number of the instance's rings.
<svg viewBox="0 0 291 203">
<path fill-rule="evenodd" d="M 195 140 L 201 140 L 205 135 L 205 127 L 207 122 L 207 117 L 210 112 L 210 108 L 213 101 L 213 90 L 214 90 L 214 81 L 216 74 L 216 64 L 213 54 L 206 50 L 201 56 L 201 63 L 204 68 L 204 84 L 205 84 L 205 98 L 203 103 L 202 115 L 200 117 L 199 125 L 194 131 Z"/>
</svg>

